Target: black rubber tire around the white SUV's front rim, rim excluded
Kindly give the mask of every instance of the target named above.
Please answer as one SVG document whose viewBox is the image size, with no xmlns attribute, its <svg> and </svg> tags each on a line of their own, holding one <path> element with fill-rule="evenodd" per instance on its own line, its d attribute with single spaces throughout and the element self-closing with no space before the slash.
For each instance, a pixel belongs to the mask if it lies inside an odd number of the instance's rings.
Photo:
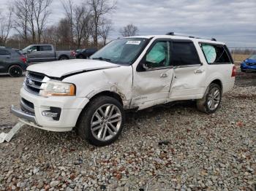
<svg viewBox="0 0 256 191">
<path fill-rule="evenodd" d="M 93 116 L 94 112 L 99 109 L 99 106 L 102 106 L 104 104 L 113 104 L 120 109 L 121 112 L 121 127 L 116 134 L 116 136 L 113 137 L 113 139 L 110 139 L 108 141 L 100 141 L 96 138 L 94 138 L 92 132 L 91 132 L 91 117 Z M 99 96 L 97 98 L 94 98 L 92 101 L 89 102 L 89 105 L 86 107 L 86 109 L 81 113 L 80 120 L 78 122 L 78 134 L 83 138 L 89 141 L 90 144 L 93 144 L 95 146 L 105 146 L 108 144 L 113 143 L 118 139 L 118 136 L 120 136 L 121 131 L 124 126 L 124 109 L 123 106 L 119 101 L 117 101 L 115 98 L 112 98 L 110 96 Z"/>
</svg>

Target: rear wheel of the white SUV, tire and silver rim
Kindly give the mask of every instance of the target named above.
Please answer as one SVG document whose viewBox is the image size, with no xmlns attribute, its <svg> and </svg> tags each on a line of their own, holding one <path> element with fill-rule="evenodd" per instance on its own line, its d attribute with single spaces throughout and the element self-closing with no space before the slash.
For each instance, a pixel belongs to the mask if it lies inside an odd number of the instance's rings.
<svg viewBox="0 0 256 191">
<path fill-rule="evenodd" d="M 222 89 L 217 84 L 211 84 L 207 87 L 203 98 L 197 100 L 197 109 L 207 114 L 212 114 L 219 109 L 222 101 Z"/>
</svg>

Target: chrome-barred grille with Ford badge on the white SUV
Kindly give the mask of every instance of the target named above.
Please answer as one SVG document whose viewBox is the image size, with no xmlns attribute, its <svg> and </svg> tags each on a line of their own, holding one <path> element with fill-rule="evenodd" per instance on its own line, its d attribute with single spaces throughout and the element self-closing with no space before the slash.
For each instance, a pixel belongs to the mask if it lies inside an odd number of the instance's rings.
<svg viewBox="0 0 256 191">
<path fill-rule="evenodd" d="M 24 80 L 24 88 L 30 93 L 39 94 L 41 90 L 42 80 L 45 78 L 44 74 L 28 71 Z"/>
</svg>

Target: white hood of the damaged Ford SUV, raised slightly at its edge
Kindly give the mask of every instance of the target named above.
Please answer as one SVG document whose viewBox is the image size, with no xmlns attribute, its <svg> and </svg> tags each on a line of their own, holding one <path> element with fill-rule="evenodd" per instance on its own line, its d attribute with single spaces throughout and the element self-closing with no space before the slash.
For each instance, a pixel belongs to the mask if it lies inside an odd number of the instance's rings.
<svg viewBox="0 0 256 191">
<path fill-rule="evenodd" d="M 118 67 L 118 65 L 106 61 L 73 59 L 45 63 L 34 63 L 33 65 L 29 66 L 27 70 L 45 74 L 48 77 L 64 77 L 73 73 L 97 69 L 109 69 L 114 67 Z"/>
</svg>

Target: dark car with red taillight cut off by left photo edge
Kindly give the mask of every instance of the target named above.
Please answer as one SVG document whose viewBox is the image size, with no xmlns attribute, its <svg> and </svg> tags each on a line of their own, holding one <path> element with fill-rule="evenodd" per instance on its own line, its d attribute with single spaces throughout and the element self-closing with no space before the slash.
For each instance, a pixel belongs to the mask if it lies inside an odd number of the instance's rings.
<svg viewBox="0 0 256 191">
<path fill-rule="evenodd" d="M 20 50 L 0 47 L 0 73 L 11 77 L 21 77 L 28 63 Z"/>
</svg>

